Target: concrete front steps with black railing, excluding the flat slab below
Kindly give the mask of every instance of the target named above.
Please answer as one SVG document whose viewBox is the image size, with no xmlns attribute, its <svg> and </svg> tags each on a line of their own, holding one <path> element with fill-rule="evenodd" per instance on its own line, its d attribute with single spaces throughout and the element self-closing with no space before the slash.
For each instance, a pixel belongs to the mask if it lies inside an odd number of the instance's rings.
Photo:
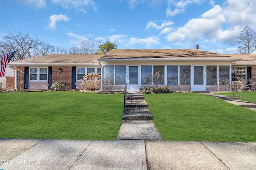
<svg viewBox="0 0 256 170">
<path fill-rule="evenodd" d="M 138 93 L 128 93 L 126 109 L 122 120 L 152 120 L 153 115 L 148 109 L 144 96 Z"/>
</svg>

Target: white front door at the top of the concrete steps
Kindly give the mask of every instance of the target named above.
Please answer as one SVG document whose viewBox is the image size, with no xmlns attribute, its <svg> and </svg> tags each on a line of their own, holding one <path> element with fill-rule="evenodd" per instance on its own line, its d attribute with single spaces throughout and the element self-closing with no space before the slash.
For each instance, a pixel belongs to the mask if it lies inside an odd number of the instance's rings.
<svg viewBox="0 0 256 170">
<path fill-rule="evenodd" d="M 128 84 L 127 91 L 128 92 L 138 92 L 138 66 L 128 66 Z"/>
</svg>

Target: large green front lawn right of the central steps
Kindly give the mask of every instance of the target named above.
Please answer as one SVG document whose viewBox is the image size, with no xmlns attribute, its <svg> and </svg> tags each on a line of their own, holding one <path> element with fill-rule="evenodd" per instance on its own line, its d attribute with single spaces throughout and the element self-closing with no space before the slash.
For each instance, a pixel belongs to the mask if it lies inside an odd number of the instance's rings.
<svg viewBox="0 0 256 170">
<path fill-rule="evenodd" d="M 196 93 L 144 94 L 163 140 L 256 142 L 256 112 Z"/>
</svg>

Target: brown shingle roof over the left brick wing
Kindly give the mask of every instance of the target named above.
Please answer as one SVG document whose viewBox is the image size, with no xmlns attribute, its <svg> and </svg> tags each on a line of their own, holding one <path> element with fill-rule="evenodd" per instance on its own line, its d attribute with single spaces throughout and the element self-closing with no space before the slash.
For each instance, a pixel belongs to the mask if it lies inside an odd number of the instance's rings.
<svg viewBox="0 0 256 170">
<path fill-rule="evenodd" d="M 42 55 L 19 61 L 10 62 L 10 65 L 26 64 L 92 64 L 98 63 L 98 58 L 103 55 Z"/>
</svg>

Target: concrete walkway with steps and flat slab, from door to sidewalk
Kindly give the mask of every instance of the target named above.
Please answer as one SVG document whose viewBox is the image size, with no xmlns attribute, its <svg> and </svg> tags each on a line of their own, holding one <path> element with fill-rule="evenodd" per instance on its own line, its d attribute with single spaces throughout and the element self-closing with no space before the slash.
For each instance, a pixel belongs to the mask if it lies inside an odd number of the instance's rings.
<svg viewBox="0 0 256 170">
<path fill-rule="evenodd" d="M 117 140 L 162 140 L 142 94 L 128 93 Z"/>
</svg>

